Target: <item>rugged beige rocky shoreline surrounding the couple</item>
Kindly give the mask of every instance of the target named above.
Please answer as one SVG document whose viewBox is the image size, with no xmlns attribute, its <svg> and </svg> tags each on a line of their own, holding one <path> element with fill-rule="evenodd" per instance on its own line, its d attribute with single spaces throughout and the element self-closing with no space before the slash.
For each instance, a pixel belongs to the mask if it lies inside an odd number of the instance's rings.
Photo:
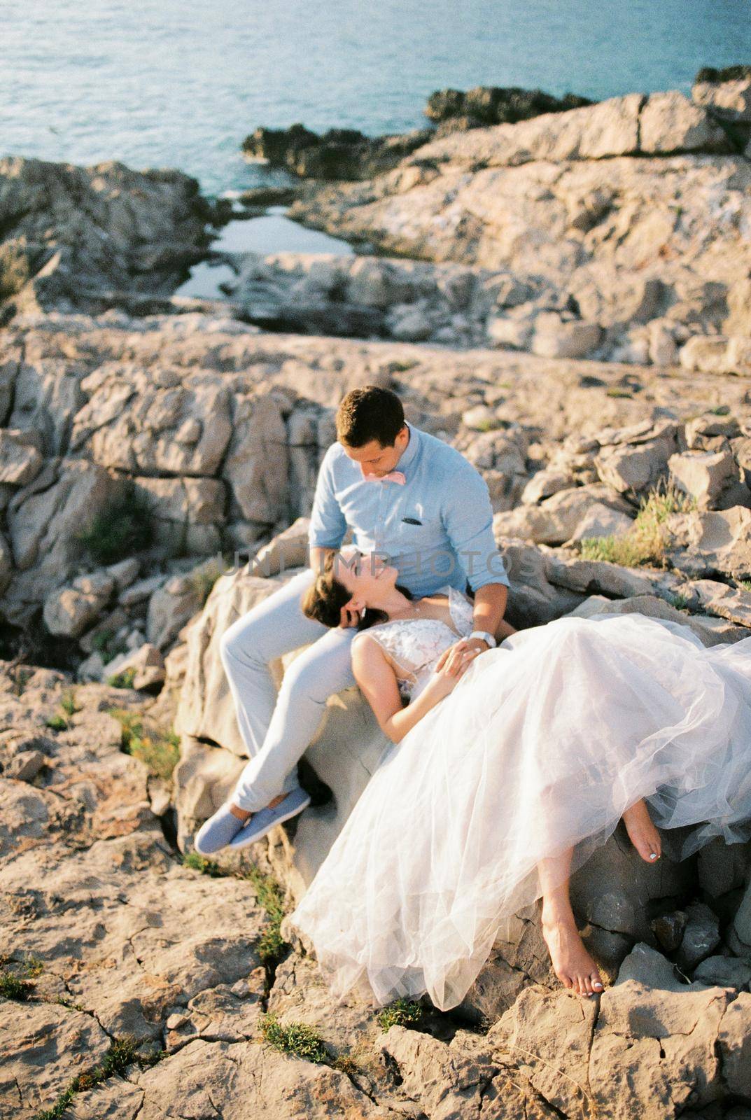
<svg viewBox="0 0 751 1120">
<path fill-rule="evenodd" d="M 0 161 L 0 1120 L 749 1120 L 749 844 L 617 832 L 573 881 L 601 999 L 531 908 L 448 1015 L 335 1005 L 283 921 L 384 747 L 356 689 L 311 808 L 191 856 L 243 766 L 219 636 L 304 563 L 356 385 L 482 473 L 517 626 L 751 636 L 751 81 L 703 77 L 307 184 L 426 259 L 245 254 L 210 305 L 172 296 L 223 220 L 195 180 Z"/>
</svg>

